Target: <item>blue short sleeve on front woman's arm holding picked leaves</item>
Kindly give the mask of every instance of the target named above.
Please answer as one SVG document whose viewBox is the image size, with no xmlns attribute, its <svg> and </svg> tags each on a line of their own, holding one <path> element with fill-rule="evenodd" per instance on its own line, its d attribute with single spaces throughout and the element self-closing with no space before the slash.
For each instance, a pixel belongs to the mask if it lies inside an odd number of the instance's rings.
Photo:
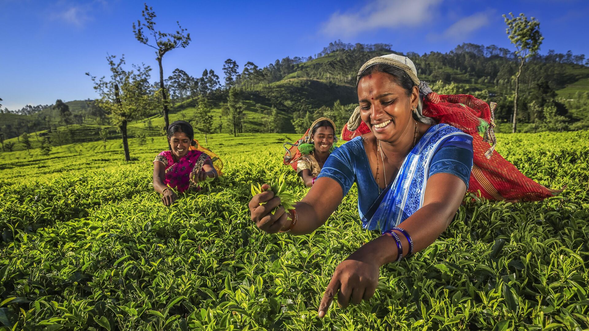
<svg viewBox="0 0 589 331">
<path fill-rule="evenodd" d="M 358 140 L 362 144 L 362 140 Z M 354 155 L 352 149 L 358 141 L 350 140 L 336 148 L 332 154 L 327 157 L 323 168 L 317 178 L 329 177 L 340 184 L 343 191 L 343 196 L 348 194 L 350 188 L 356 180 L 356 175 L 353 171 L 352 157 Z"/>
</svg>

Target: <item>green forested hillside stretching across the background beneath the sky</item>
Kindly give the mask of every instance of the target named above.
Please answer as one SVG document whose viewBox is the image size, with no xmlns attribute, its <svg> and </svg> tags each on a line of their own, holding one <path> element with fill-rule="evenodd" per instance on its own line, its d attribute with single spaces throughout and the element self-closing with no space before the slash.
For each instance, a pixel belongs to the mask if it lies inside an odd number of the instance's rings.
<svg viewBox="0 0 589 331">
<path fill-rule="evenodd" d="M 345 123 L 356 103 L 355 76 L 369 58 L 395 52 L 388 44 L 330 43 L 318 54 L 307 58 L 285 57 L 273 64 L 258 67 L 247 62 L 243 68 L 227 59 L 224 84 L 213 70 L 193 77 L 176 69 L 166 80 L 170 91 L 171 117 L 198 120 L 194 117 L 197 97 L 204 95 L 212 106 L 214 131 L 233 131 L 227 97 L 236 89 L 243 104 L 238 114 L 240 132 L 302 131 L 313 118 L 333 117 L 336 124 Z M 473 94 L 485 101 L 495 101 L 496 122 L 511 121 L 513 113 L 514 75 L 517 61 L 514 53 L 494 45 L 462 44 L 450 52 L 404 54 L 418 69 L 421 80 L 429 81 L 440 94 Z M 571 52 L 537 55 L 525 65 L 519 78 L 518 120 L 524 131 L 562 131 L 588 128 L 589 67 L 584 55 Z M 153 87 L 157 90 L 157 87 Z M 58 96 L 57 96 L 58 97 Z M 65 102 L 61 105 L 38 105 L 18 111 L 2 110 L 2 140 L 24 132 L 51 135 L 54 141 L 99 140 L 100 130 L 117 135 L 111 127 L 108 112 L 92 100 Z M 149 110 L 143 120 L 130 123 L 130 136 L 159 135 L 163 120 L 160 108 Z M 110 127 L 110 128 L 109 128 Z M 133 129 L 134 127 L 134 129 Z M 144 130 L 137 130 L 141 127 Z M 60 133 L 61 132 L 61 133 Z M 19 139 L 16 139 L 18 148 Z"/>
</svg>

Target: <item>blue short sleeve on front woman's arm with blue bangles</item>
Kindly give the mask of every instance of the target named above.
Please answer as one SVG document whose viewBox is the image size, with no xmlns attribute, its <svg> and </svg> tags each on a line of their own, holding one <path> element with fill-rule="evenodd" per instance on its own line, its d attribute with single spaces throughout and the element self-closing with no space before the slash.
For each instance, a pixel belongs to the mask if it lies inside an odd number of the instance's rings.
<svg viewBox="0 0 589 331">
<path fill-rule="evenodd" d="M 429 176 L 448 173 L 460 178 L 468 188 L 472 170 L 472 137 L 457 135 L 450 138 L 432 157 Z"/>
</svg>

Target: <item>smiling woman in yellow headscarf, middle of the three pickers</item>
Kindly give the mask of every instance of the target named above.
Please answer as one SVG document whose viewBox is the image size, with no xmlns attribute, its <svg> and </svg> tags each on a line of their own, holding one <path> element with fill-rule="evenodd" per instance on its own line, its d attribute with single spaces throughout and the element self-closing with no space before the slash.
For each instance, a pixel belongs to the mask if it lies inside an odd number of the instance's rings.
<svg viewBox="0 0 589 331">
<path fill-rule="evenodd" d="M 305 186 L 311 187 L 336 141 L 333 121 L 326 117 L 317 118 L 305 135 L 287 150 L 284 164 L 290 164 L 303 179 Z"/>
</svg>

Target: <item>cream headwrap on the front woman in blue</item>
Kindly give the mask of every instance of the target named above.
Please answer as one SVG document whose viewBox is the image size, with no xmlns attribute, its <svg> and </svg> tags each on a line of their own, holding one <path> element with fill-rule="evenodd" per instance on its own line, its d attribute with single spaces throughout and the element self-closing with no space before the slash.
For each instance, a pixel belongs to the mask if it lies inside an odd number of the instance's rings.
<svg viewBox="0 0 589 331">
<path fill-rule="evenodd" d="M 363 64 L 362 67 L 360 67 L 357 77 L 360 77 L 360 74 L 362 74 L 362 71 L 365 71 L 366 68 L 371 67 L 375 64 L 388 64 L 392 65 L 393 67 L 397 67 L 405 71 L 409 78 L 411 78 L 413 84 L 419 87 L 420 94 L 426 95 L 429 92 L 431 92 L 431 89 L 429 89 L 428 85 L 425 84 L 425 82 L 420 81 L 419 78 L 417 78 L 417 69 L 415 69 L 415 64 L 413 64 L 413 61 L 411 61 L 411 59 L 408 57 L 403 57 L 402 55 L 388 54 L 382 55 L 381 57 L 371 58 L 368 61 L 366 61 L 366 63 Z M 356 84 L 358 84 L 358 78 L 356 78 Z M 432 118 L 423 116 L 423 114 L 421 113 L 422 108 L 422 100 L 421 98 L 419 98 L 419 105 L 416 111 L 419 121 L 426 124 L 434 124 L 435 121 Z M 360 123 L 362 123 L 362 119 L 360 118 L 360 107 L 358 106 L 352 112 L 352 116 L 350 116 L 350 119 L 348 120 L 348 130 L 356 130 L 360 126 Z"/>
</svg>

